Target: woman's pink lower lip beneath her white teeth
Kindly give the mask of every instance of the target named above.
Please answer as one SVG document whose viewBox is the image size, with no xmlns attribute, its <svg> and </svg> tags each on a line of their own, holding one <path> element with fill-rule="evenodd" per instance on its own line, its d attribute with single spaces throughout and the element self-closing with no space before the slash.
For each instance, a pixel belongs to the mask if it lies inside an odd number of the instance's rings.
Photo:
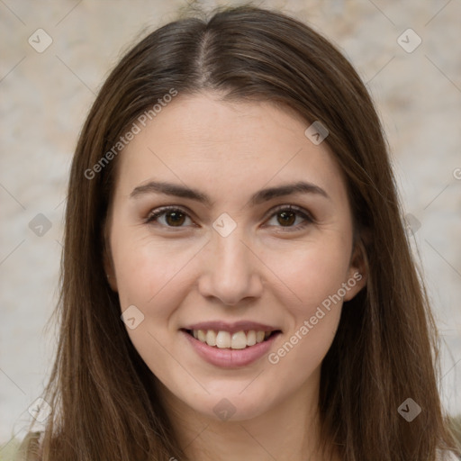
<svg viewBox="0 0 461 461">
<path fill-rule="evenodd" d="M 191 346 L 208 363 L 214 366 L 221 366 L 222 368 L 237 368 L 240 366 L 247 366 L 252 362 L 258 360 L 267 354 L 267 351 L 272 346 L 274 339 L 280 334 L 276 333 L 269 339 L 259 342 L 254 346 L 249 346 L 244 349 L 230 349 L 230 348 L 215 348 L 208 346 L 208 344 L 195 339 L 192 335 L 181 330 L 185 338 L 190 342 Z"/>
</svg>

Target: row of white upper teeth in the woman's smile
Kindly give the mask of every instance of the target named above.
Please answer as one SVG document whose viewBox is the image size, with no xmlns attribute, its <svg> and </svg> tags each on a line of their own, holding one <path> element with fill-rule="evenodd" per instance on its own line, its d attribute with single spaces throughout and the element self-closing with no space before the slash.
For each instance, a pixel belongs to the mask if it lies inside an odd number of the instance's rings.
<svg viewBox="0 0 461 461">
<path fill-rule="evenodd" d="M 247 346 L 254 346 L 258 342 L 267 339 L 270 333 L 271 331 L 249 330 L 245 332 L 241 330 L 230 334 L 229 331 L 192 330 L 194 338 L 208 344 L 208 346 L 231 349 L 244 349 Z"/>
</svg>

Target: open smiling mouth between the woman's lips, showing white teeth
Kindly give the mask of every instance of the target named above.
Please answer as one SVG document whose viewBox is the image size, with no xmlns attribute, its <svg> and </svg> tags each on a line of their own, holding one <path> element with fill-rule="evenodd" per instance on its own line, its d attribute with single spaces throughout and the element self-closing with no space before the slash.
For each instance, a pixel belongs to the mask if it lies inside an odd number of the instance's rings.
<svg viewBox="0 0 461 461">
<path fill-rule="evenodd" d="M 181 329 L 189 336 L 211 348 L 241 350 L 274 339 L 281 330 L 205 330 Z"/>
</svg>

